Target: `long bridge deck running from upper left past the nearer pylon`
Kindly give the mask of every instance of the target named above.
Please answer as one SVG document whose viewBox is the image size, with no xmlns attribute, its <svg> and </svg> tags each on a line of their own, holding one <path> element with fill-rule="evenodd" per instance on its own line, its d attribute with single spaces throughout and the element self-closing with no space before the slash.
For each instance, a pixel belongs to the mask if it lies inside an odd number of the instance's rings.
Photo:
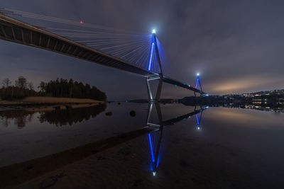
<svg viewBox="0 0 284 189">
<path fill-rule="evenodd" d="M 59 35 L 55 35 L 54 33 L 29 25 L 28 23 L 23 23 L 22 21 L 18 21 L 14 18 L 4 16 L 1 13 L 0 39 L 44 50 L 50 50 L 52 52 L 76 57 L 78 59 L 84 59 L 89 62 L 95 62 L 108 67 L 129 71 L 141 76 L 158 76 L 157 73 L 138 67 L 130 62 L 126 62 L 124 59 L 119 59 L 118 57 L 113 57 L 107 53 L 100 52 L 99 50 L 94 50 L 91 47 L 80 44 L 79 42 L 68 40 L 67 38 L 63 38 Z M 167 76 L 164 76 L 163 81 L 168 84 L 187 88 L 197 93 L 201 92 L 197 88 L 193 88 L 180 81 L 170 79 Z"/>
</svg>

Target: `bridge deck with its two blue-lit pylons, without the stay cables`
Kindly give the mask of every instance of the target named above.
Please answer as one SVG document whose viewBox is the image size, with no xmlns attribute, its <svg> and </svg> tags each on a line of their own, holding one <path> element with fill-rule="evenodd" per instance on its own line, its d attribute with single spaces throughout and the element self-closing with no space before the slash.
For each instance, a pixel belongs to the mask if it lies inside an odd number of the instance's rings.
<svg viewBox="0 0 284 189">
<path fill-rule="evenodd" d="M 0 9 L 0 39 L 9 42 L 16 42 L 22 45 L 28 45 L 31 47 L 40 48 L 43 50 L 49 50 L 52 52 L 60 53 L 62 55 L 67 55 L 70 57 L 76 57 L 78 59 L 83 59 L 85 61 L 94 62 L 97 64 L 102 64 L 104 66 L 113 67 L 115 69 L 120 69 L 123 71 L 128 71 L 133 74 L 138 74 L 140 76 L 146 77 L 146 85 L 148 90 L 149 101 L 155 102 L 160 101 L 160 94 L 164 83 L 172 84 L 174 86 L 179 86 L 181 88 L 186 88 L 194 93 L 200 93 L 203 96 L 205 93 L 202 91 L 200 79 L 197 77 L 197 82 L 200 84 L 200 89 L 184 82 L 172 79 L 163 74 L 162 62 L 160 59 L 160 54 L 158 50 L 158 42 L 155 32 L 151 36 L 151 47 L 150 55 L 148 57 L 148 69 L 139 67 L 126 59 L 110 55 L 101 50 L 96 50 L 92 47 L 84 45 L 80 42 L 70 40 L 68 38 L 62 37 L 56 33 L 52 33 L 48 30 L 43 30 L 38 26 L 34 26 L 23 21 L 19 21 L 16 18 L 11 18 L 6 16 L 11 11 L 6 11 L 5 9 Z M 82 21 L 81 21 L 82 23 Z M 154 30 L 153 30 L 154 31 Z M 119 46 L 119 45 L 117 45 Z M 122 46 L 122 45 L 121 45 Z M 154 54 L 155 56 L 154 57 Z M 155 58 L 155 62 L 154 59 Z M 158 64 L 158 71 L 153 71 L 153 63 Z M 157 66 L 157 65 L 155 65 Z M 158 80 L 158 89 L 155 97 L 151 91 L 150 81 Z"/>
</svg>

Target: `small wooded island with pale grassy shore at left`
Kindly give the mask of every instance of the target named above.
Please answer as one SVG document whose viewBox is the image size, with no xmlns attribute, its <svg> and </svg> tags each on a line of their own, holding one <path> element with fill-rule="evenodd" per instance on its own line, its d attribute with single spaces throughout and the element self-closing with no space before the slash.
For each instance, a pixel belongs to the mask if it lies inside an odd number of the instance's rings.
<svg viewBox="0 0 284 189">
<path fill-rule="evenodd" d="M 4 79 L 0 88 L 0 107 L 4 109 L 79 108 L 102 104 L 106 100 L 107 95 L 97 87 L 72 79 L 41 81 L 35 90 L 32 82 L 18 76 L 14 84 L 9 78 Z"/>
</svg>

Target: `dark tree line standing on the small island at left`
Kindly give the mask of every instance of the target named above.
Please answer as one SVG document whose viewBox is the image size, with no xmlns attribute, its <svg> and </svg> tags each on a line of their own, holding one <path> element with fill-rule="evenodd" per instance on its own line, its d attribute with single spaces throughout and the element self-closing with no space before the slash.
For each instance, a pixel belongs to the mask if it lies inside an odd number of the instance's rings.
<svg viewBox="0 0 284 189">
<path fill-rule="evenodd" d="M 38 86 L 39 91 L 35 91 L 32 82 L 28 82 L 23 76 L 19 76 L 12 85 L 10 79 L 6 78 L 2 81 L 0 89 L 1 99 L 17 99 L 27 96 L 53 96 L 67 98 L 90 98 L 99 101 L 105 101 L 107 95 L 95 86 L 82 84 L 82 82 L 70 79 L 56 79 L 48 82 L 41 81 Z"/>
</svg>

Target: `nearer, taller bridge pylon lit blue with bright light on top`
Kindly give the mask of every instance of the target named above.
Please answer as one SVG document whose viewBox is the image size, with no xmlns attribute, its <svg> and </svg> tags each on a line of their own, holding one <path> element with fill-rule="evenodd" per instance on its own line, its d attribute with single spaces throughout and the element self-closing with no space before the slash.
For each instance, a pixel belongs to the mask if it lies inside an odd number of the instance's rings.
<svg viewBox="0 0 284 189">
<path fill-rule="evenodd" d="M 158 43 L 157 43 L 157 37 L 155 35 L 155 30 L 152 31 L 152 40 L 151 40 L 151 48 L 150 48 L 150 55 L 149 55 L 149 61 L 148 61 L 148 71 L 151 71 L 152 69 L 152 63 L 153 63 L 153 52 L 155 50 L 155 55 L 157 56 L 159 67 L 160 67 L 160 73 L 156 76 L 149 76 L 146 79 L 146 85 L 147 85 L 147 91 L 148 91 L 148 100 L 150 102 L 158 102 L 160 101 L 160 94 L 162 92 L 162 86 L 163 86 L 163 69 L 162 69 L 162 63 L 160 61 L 160 54 L 158 50 Z M 153 93 L 151 92 L 150 87 L 150 81 L 153 80 L 159 80 L 157 92 L 155 94 L 155 98 L 153 98 Z"/>
</svg>

